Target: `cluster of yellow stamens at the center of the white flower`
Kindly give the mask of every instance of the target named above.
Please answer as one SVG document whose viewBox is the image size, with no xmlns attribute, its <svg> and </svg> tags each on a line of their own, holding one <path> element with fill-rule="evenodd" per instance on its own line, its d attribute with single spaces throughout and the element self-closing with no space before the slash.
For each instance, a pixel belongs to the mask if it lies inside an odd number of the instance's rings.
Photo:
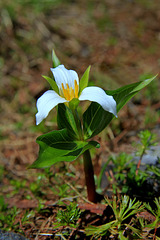
<svg viewBox="0 0 160 240">
<path fill-rule="evenodd" d="M 78 98 L 78 90 L 79 86 L 76 80 L 74 80 L 74 88 L 69 87 L 68 83 L 66 83 L 65 88 L 62 83 L 61 95 L 64 96 L 67 101 L 71 101 L 73 98 Z"/>
</svg>

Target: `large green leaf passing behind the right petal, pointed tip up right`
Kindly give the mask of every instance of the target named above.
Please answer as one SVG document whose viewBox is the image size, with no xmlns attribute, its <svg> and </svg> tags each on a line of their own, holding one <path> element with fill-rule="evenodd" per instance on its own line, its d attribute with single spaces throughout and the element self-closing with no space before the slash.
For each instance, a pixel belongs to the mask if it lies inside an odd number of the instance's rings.
<svg viewBox="0 0 160 240">
<path fill-rule="evenodd" d="M 112 95 L 117 103 L 117 112 L 141 89 L 147 86 L 156 76 L 126 85 L 116 90 L 106 91 Z M 83 114 L 83 127 L 85 139 L 89 139 L 100 133 L 114 118 L 114 115 L 105 111 L 98 103 L 91 103 L 89 108 Z"/>
</svg>

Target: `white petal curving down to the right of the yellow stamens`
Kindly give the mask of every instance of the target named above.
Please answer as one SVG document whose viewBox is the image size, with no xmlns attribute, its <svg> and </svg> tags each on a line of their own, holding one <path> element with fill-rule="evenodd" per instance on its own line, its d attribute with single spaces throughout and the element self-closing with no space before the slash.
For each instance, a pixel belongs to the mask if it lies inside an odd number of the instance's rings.
<svg viewBox="0 0 160 240">
<path fill-rule="evenodd" d="M 99 87 L 86 87 L 83 89 L 80 97 L 80 101 L 89 100 L 99 103 L 105 111 L 113 113 L 117 116 L 116 101 L 112 96 L 105 93 L 102 88 Z"/>
</svg>

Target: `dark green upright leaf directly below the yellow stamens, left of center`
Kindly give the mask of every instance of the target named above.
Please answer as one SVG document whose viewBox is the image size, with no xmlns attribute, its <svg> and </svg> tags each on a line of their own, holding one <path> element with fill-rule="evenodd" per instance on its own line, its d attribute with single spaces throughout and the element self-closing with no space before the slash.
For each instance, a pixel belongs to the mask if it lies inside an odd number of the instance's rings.
<svg viewBox="0 0 160 240">
<path fill-rule="evenodd" d="M 74 139 L 79 138 L 79 132 L 77 129 L 77 125 L 75 122 L 75 118 L 70 108 L 68 108 L 65 104 L 58 105 L 57 111 L 57 123 L 59 129 L 68 129 L 69 135 L 71 135 Z"/>
</svg>

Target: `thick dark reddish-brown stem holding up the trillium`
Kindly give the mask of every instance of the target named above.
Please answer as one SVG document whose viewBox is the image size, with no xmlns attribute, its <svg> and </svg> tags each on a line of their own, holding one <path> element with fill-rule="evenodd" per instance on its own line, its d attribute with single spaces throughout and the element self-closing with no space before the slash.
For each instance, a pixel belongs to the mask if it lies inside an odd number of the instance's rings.
<svg viewBox="0 0 160 240">
<path fill-rule="evenodd" d="M 97 202 L 97 193 L 94 181 L 94 170 L 92 165 L 92 159 L 89 150 L 83 153 L 83 164 L 85 172 L 85 181 L 87 186 L 88 200 L 91 202 Z"/>
</svg>

